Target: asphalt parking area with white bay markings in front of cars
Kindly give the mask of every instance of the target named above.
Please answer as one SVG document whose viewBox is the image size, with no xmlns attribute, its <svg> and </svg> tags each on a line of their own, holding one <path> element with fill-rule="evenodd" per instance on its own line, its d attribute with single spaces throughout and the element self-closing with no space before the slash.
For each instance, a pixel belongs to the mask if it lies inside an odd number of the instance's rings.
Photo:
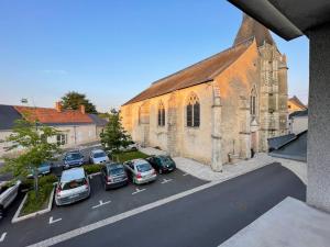
<svg viewBox="0 0 330 247">
<path fill-rule="evenodd" d="M 152 183 L 144 186 L 129 183 L 123 188 L 105 191 L 100 176 L 95 176 L 90 178 L 91 195 L 89 199 L 61 207 L 53 203 L 53 210 L 50 213 L 11 224 L 10 221 L 22 200 L 22 197 L 20 197 L 1 221 L 0 246 L 34 244 L 204 183 L 206 181 L 177 169 L 172 173 L 160 175 L 157 180 Z M 33 227 L 31 227 L 32 225 Z M 24 234 L 20 234 L 20 237 L 18 237 L 16 233 Z"/>
</svg>

